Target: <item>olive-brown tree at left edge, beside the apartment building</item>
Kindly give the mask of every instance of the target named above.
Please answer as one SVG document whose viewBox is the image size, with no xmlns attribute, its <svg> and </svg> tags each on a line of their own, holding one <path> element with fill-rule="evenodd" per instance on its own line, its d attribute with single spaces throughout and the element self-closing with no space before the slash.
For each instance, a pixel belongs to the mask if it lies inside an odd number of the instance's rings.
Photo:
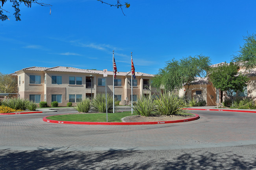
<svg viewBox="0 0 256 170">
<path fill-rule="evenodd" d="M 18 93 L 17 76 L 0 73 L 0 93 Z"/>
</svg>

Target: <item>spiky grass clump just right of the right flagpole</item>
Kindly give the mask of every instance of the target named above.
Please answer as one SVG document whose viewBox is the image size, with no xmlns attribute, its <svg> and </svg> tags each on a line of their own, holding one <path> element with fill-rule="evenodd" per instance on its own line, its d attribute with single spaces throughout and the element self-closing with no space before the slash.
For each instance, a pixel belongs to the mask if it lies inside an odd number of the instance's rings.
<svg viewBox="0 0 256 170">
<path fill-rule="evenodd" d="M 141 99 L 134 102 L 132 108 L 141 116 L 150 116 L 154 112 L 154 107 L 155 104 L 152 97 L 142 96 Z"/>
</svg>

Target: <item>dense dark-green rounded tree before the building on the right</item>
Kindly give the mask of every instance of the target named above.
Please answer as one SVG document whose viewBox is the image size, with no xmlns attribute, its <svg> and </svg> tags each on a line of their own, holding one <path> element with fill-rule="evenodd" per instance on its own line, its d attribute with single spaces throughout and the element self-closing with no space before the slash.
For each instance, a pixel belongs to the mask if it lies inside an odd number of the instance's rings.
<svg viewBox="0 0 256 170">
<path fill-rule="evenodd" d="M 215 88 L 223 91 L 228 91 L 229 96 L 233 100 L 233 93 L 236 91 L 243 91 L 247 86 L 249 78 L 242 73 L 238 73 L 239 66 L 230 62 L 226 62 L 215 68 L 211 68 L 209 78 Z"/>
</svg>

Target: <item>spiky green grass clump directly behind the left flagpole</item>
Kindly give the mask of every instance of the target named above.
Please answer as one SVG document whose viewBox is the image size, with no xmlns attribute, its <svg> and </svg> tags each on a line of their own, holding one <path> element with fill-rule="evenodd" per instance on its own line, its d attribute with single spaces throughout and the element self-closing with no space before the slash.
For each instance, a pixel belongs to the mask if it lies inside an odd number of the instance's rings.
<svg viewBox="0 0 256 170">
<path fill-rule="evenodd" d="M 113 96 L 107 93 L 108 112 L 113 112 Z M 92 101 L 92 106 L 100 113 L 106 112 L 106 96 L 105 93 L 98 93 Z"/>
</svg>

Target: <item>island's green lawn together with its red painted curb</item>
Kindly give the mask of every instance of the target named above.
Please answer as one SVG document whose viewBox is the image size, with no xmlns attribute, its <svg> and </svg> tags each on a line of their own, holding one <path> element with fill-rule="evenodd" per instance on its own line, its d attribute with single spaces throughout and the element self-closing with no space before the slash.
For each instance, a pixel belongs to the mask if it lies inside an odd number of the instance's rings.
<svg viewBox="0 0 256 170">
<path fill-rule="evenodd" d="M 199 119 L 199 115 L 195 115 L 189 119 L 180 119 L 174 121 L 154 121 L 154 122 L 120 122 L 123 117 L 131 116 L 129 112 L 108 113 L 108 122 L 106 122 L 106 113 L 93 114 L 61 114 L 52 115 L 43 118 L 43 121 L 60 124 L 87 124 L 87 125 L 143 125 L 143 124 L 167 124 L 178 122 L 189 122 Z M 133 114 L 134 115 L 134 114 Z"/>
</svg>

